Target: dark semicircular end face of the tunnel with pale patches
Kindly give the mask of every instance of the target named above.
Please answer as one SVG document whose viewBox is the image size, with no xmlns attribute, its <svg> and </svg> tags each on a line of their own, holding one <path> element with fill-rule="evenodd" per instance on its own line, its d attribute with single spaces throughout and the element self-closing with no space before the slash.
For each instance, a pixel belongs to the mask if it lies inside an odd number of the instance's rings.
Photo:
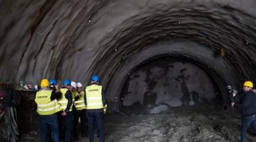
<svg viewBox="0 0 256 142">
<path fill-rule="evenodd" d="M 126 114 L 220 110 L 224 98 L 208 68 L 194 60 L 161 55 L 129 72 L 120 94 Z"/>
</svg>

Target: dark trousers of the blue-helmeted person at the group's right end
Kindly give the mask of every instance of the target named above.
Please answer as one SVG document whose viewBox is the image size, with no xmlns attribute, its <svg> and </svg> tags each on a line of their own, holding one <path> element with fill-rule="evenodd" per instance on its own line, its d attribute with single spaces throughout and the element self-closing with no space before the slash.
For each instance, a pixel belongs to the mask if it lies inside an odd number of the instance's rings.
<svg viewBox="0 0 256 142">
<path fill-rule="evenodd" d="M 86 112 L 88 135 L 90 142 L 93 142 L 94 138 L 94 123 L 96 121 L 97 129 L 99 133 L 99 141 L 104 142 L 104 113 L 103 112 Z"/>
</svg>

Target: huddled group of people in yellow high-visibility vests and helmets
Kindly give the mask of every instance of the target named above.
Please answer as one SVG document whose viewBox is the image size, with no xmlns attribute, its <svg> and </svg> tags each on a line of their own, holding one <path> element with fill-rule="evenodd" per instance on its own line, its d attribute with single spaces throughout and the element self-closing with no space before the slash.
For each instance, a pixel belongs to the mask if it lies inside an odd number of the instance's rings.
<svg viewBox="0 0 256 142">
<path fill-rule="evenodd" d="M 106 99 L 99 77 L 91 77 L 91 85 L 85 92 L 81 83 L 63 80 L 61 89 L 56 79 L 42 79 L 41 89 L 36 93 L 35 102 L 39 114 L 41 141 L 71 141 L 78 139 L 77 125 L 80 118 L 82 137 L 87 137 L 85 121 L 87 118 L 89 140 L 94 139 L 94 124 L 97 124 L 99 141 L 104 141 L 104 112 Z"/>
</svg>

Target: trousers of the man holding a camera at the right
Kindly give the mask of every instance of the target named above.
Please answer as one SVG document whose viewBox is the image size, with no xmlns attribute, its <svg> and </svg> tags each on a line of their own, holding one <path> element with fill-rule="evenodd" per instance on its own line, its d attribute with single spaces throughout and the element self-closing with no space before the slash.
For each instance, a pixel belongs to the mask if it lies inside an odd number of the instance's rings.
<svg viewBox="0 0 256 142">
<path fill-rule="evenodd" d="M 252 124 L 254 133 L 256 134 L 256 114 L 252 116 L 242 117 L 242 127 L 241 127 L 241 141 L 246 141 L 246 132 L 248 127 Z"/>
</svg>

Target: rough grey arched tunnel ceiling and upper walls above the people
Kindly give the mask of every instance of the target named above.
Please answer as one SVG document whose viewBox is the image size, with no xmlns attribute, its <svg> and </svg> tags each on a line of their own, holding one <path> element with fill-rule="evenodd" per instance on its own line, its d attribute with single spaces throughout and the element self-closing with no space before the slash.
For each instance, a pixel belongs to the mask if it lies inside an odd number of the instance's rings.
<svg viewBox="0 0 256 142">
<path fill-rule="evenodd" d="M 114 77 L 127 77 L 120 70 L 172 52 L 210 66 L 223 85 L 256 80 L 253 0 L 20 0 L 0 5 L 1 82 L 54 77 L 85 85 L 97 73 L 111 88 Z M 163 46 L 153 46 L 159 42 Z"/>
</svg>

